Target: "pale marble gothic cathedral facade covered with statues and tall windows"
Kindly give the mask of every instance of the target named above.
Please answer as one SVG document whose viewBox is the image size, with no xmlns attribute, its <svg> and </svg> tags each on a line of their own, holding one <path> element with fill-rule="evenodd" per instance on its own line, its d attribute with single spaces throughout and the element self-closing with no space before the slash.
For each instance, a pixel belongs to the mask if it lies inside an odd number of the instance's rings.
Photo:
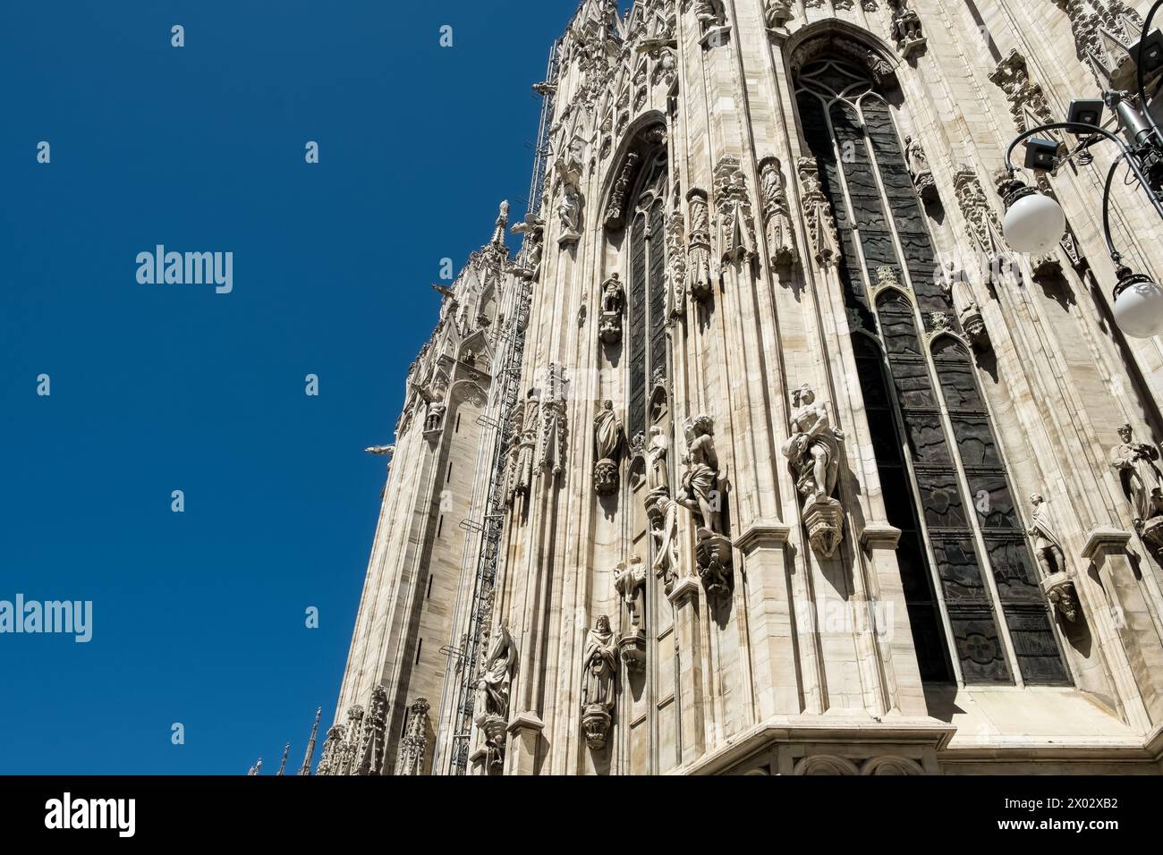
<svg viewBox="0 0 1163 855">
<path fill-rule="evenodd" d="M 369 449 L 319 772 L 1163 771 L 1163 350 L 1112 322 L 1110 154 L 1003 169 L 1129 88 L 1141 24 L 583 2 L 530 209 L 437 288 Z M 1066 213 L 1044 255 L 1003 238 L 1014 180 Z M 1160 280 L 1153 218 L 1116 194 Z"/>
</svg>

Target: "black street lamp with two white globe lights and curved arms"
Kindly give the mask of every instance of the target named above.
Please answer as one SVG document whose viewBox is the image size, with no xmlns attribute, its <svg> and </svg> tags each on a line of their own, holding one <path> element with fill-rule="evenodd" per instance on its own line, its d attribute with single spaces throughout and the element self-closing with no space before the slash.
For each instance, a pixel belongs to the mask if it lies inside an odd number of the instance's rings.
<svg viewBox="0 0 1163 855">
<path fill-rule="evenodd" d="M 1158 30 L 1150 30 L 1151 20 L 1161 7 L 1163 0 L 1156 0 L 1143 23 L 1139 43 L 1128 50 L 1135 63 L 1137 92 L 1132 94 L 1111 90 L 1103 93 L 1101 101 L 1072 101 L 1066 121 L 1051 122 L 1019 134 L 1006 150 L 1006 170 L 1011 180 L 1003 191 L 1006 215 L 1001 230 L 1006 242 L 1019 252 L 1044 252 L 1062 240 L 1066 227 L 1065 214 L 1055 199 L 1027 186 L 1014 174 L 1014 150 L 1026 142 L 1025 166 L 1050 171 L 1075 156 L 1089 163 L 1092 159 L 1090 149 L 1099 142 L 1110 140 L 1119 147 L 1120 154 L 1111 165 L 1103 188 L 1103 235 L 1118 278 L 1113 293 L 1114 320 L 1126 335 L 1135 339 L 1148 339 L 1163 333 L 1163 288 L 1149 276 L 1135 273 L 1122 263 L 1122 255 L 1111 237 L 1111 185 L 1119 165 L 1126 162 L 1163 220 L 1163 130 L 1148 109 L 1144 90 L 1146 76 L 1163 67 L 1163 35 Z M 1101 127 L 1104 108 L 1114 114 L 1122 138 Z M 1071 133 L 1080 143 L 1072 152 L 1059 158 L 1058 143 L 1037 136 L 1050 130 Z"/>
</svg>

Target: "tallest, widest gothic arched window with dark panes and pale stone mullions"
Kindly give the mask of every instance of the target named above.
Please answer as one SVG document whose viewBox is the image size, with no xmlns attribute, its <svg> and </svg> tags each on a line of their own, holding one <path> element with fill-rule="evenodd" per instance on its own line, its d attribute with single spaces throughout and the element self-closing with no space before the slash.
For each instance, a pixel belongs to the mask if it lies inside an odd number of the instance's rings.
<svg viewBox="0 0 1163 855">
<path fill-rule="evenodd" d="M 892 111 L 868 73 L 830 59 L 800 70 L 797 102 L 836 220 L 837 273 L 885 507 L 901 529 L 921 676 L 1066 684 Z"/>
</svg>

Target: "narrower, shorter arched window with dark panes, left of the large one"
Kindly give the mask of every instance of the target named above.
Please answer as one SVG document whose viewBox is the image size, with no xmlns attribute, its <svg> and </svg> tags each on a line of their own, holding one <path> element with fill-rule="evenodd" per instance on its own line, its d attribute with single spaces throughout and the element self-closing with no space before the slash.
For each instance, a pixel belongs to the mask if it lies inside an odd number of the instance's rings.
<svg viewBox="0 0 1163 855">
<path fill-rule="evenodd" d="M 645 433 L 652 390 L 666 368 L 666 154 L 643 170 L 630 220 L 627 435 Z"/>
</svg>

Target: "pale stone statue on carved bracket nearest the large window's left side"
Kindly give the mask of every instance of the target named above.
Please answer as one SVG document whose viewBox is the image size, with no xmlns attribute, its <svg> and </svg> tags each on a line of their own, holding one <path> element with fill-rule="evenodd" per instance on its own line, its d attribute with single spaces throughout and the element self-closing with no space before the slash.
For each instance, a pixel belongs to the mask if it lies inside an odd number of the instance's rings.
<svg viewBox="0 0 1163 855">
<path fill-rule="evenodd" d="M 804 522 L 813 549 L 830 558 L 843 537 L 842 507 L 835 498 L 840 478 L 840 442 L 844 435 L 832 426 L 828 408 L 815 402 L 815 392 L 804 384 L 792 396 L 795 411 L 783 453 L 795 475 L 795 490 L 804 497 Z"/>
</svg>

